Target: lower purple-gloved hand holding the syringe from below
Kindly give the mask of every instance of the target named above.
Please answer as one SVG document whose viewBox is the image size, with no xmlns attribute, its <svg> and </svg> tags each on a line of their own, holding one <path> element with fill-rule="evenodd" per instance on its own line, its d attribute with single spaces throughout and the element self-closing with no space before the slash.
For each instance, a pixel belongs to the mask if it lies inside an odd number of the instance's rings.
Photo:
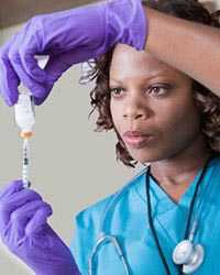
<svg viewBox="0 0 220 275">
<path fill-rule="evenodd" d="M 0 191 L 0 235 L 8 249 L 36 275 L 78 275 L 69 249 L 46 223 L 51 215 L 51 206 L 21 180 Z"/>
</svg>

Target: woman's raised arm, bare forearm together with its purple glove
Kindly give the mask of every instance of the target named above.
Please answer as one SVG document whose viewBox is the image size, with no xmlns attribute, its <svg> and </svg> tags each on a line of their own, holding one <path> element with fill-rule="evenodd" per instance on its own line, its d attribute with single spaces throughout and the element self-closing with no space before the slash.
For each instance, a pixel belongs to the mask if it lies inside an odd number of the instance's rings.
<svg viewBox="0 0 220 275">
<path fill-rule="evenodd" d="M 141 0 L 101 1 L 32 18 L 0 48 L 0 94 L 13 106 L 22 81 L 41 105 L 70 66 L 118 43 L 152 52 L 220 96 L 220 29 L 166 15 Z M 41 54 L 50 55 L 43 70 L 34 58 Z"/>
</svg>

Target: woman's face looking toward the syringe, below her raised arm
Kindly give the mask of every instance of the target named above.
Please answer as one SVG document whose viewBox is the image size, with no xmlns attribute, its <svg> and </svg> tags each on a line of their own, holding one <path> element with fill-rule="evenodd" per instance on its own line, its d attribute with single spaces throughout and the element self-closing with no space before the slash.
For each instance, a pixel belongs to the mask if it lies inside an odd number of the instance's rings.
<svg viewBox="0 0 220 275">
<path fill-rule="evenodd" d="M 150 53 L 117 45 L 110 67 L 110 109 L 114 128 L 135 161 L 173 157 L 201 134 L 191 82 Z M 125 138 L 128 131 L 139 133 Z"/>
</svg>

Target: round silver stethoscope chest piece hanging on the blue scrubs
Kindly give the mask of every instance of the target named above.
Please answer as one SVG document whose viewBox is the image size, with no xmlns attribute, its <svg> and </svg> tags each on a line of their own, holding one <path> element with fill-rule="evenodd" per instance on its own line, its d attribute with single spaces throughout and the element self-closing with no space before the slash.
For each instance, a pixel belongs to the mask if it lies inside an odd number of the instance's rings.
<svg viewBox="0 0 220 275">
<path fill-rule="evenodd" d="M 189 240 L 178 243 L 173 252 L 175 264 L 183 265 L 185 274 L 191 274 L 202 264 L 205 250 L 200 244 L 193 244 Z"/>
</svg>

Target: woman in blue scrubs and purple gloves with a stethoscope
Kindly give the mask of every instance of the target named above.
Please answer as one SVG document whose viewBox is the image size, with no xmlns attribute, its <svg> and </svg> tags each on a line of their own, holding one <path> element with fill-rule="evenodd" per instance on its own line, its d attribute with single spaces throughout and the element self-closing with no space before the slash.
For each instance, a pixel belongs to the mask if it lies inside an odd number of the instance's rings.
<svg viewBox="0 0 220 275">
<path fill-rule="evenodd" d="M 146 1 L 146 7 L 116 0 L 94 7 L 35 18 L 6 44 L 2 96 L 12 106 L 22 80 L 41 105 L 65 69 L 96 57 L 97 127 L 116 131 L 117 157 L 124 165 L 147 167 L 76 217 L 72 253 L 46 223 L 51 206 L 21 182 L 10 183 L 0 194 L 2 241 L 41 275 L 217 275 L 220 24 L 195 0 Z M 64 18 L 76 32 L 80 26 L 78 40 L 72 41 L 75 32 L 61 24 Z M 91 37 L 85 18 L 109 29 L 97 26 Z M 54 22 L 59 28 L 51 32 Z M 45 72 L 34 66 L 36 53 L 52 54 Z M 175 248 L 182 240 L 187 243 L 179 252 Z"/>
</svg>

